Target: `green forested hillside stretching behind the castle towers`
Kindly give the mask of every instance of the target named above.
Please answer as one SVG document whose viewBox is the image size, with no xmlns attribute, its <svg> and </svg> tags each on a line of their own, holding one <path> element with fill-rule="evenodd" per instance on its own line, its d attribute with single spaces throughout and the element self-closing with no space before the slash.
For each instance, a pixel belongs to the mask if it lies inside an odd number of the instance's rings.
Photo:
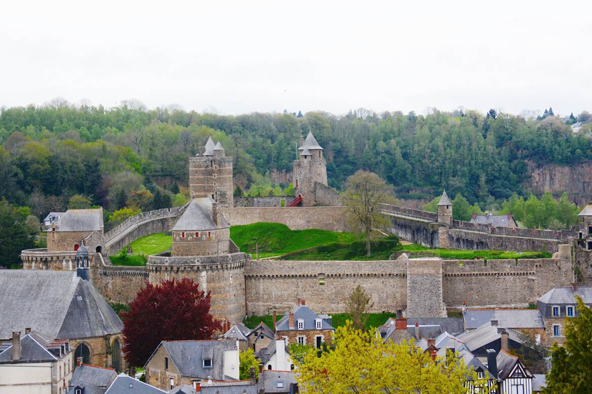
<svg viewBox="0 0 592 394">
<path fill-rule="evenodd" d="M 584 112 L 578 120 L 592 119 Z M 207 136 L 234 157 L 235 184 L 249 188 L 268 183 L 271 169 L 291 171 L 298 141 L 310 130 L 325 148 L 329 184 L 337 189 L 363 168 L 385 178 L 398 197 L 431 199 L 446 188 L 485 209 L 527 194 L 527 161 L 574 165 L 591 158 L 584 126 L 572 135 L 556 116 L 527 121 L 494 111 L 222 116 L 147 110 L 134 101 L 110 109 L 54 101 L 2 109 L 0 193 L 37 213 L 65 209 L 75 194 L 111 211 L 132 197 L 150 208 L 138 197 L 146 192 L 168 196 L 165 205 L 181 203 L 187 158 Z"/>
</svg>

